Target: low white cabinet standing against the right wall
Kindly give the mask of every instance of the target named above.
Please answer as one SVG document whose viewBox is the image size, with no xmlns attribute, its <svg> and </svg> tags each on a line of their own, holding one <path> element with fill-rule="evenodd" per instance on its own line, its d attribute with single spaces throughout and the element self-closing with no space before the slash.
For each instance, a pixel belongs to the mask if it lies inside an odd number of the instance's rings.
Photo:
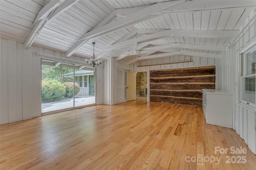
<svg viewBox="0 0 256 170">
<path fill-rule="evenodd" d="M 233 94 L 203 89 L 202 105 L 207 124 L 233 128 Z"/>
</svg>

